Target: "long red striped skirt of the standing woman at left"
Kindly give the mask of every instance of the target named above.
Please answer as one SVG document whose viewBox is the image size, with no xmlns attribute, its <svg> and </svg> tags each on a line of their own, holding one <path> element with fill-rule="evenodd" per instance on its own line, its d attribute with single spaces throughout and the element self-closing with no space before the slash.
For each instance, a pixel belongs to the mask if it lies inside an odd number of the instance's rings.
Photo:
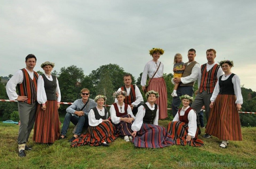
<svg viewBox="0 0 256 169">
<path fill-rule="evenodd" d="M 38 143 L 54 143 L 60 137 L 60 119 L 57 100 L 47 100 L 46 110 L 37 106 L 33 141 Z"/>
</svg>

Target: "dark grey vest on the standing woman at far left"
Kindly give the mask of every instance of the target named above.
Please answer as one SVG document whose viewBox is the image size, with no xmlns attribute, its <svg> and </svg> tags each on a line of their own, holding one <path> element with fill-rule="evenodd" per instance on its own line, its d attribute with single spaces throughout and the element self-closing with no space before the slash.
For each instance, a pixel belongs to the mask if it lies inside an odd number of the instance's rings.
<svg viewBox="0 0 256 169">
<path fill-rule="evenodd" d="M 47 100 L 57 100 L 56 96 L 56 88 L 57 88 L 57 80 L 56 76 L 53 76 L 53 81 L 50 81 L 46 78 L 45 74 L 42 75 L 44 79 L 44 89 L 46 93 Z"/>
</svg>

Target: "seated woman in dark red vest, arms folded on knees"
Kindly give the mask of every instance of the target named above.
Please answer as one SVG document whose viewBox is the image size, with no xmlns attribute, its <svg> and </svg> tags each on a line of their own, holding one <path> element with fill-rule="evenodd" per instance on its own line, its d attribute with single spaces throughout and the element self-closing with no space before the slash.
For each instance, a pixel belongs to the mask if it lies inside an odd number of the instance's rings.
<svg viewBox="0 0 256 169">
<path fill-rule="evenodd" d="M 125 141 L 131 141 L 131 124 L 135 120 L 135 116 L 131 111 L 131 107 L 124 103 L 127 96 L 126 91 L 117 91 L 113 93 L 113 97 L 117 98 L 117 103 L 113 103 L 110 107 L 110 117 L 112 123 L 116 126 L 116 133 L 124 136 Z"/>
</svg>

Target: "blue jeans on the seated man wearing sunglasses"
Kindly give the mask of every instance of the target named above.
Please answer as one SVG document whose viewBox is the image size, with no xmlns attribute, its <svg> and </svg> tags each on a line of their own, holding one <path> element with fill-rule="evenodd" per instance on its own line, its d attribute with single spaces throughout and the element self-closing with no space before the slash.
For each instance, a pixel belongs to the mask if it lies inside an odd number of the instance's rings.
<svg viewBox="0 0 256 169">
<path fill-rule="evenodd" d="M 77 125 L 77 128 L 75 130 L 75 135 L 78 135 L 78 136 L 81 135 L 83 131 L 83 126 L 85 127 L 89 126 L 88 115 L 85 114 L 84 116 L 72 116 L 71 113 L 66 113 L 62 130 L 61 130 L 61 135 L 66 136 L 70 121 L 74 125 Z"/>
</svg>

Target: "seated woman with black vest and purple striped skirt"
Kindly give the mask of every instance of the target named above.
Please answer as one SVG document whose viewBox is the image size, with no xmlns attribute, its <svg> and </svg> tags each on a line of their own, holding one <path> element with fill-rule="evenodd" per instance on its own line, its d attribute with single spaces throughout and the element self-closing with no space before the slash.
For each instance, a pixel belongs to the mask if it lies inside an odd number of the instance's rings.
<svg viewBox="0 0 256 169">
<path fill-rule="evenodd" d="M 173 145 L 171 136 L 167 133 L 166 128 L 158 126 L 159 110 L 156 99 L 159 97 L 158 92 L 150 90 L 146 93 L 148 102 L 138 108 L 136 119 L 131 126 L 132 142 L 135 147 L 142 148 L 163 148 Z"/>
</svg>

